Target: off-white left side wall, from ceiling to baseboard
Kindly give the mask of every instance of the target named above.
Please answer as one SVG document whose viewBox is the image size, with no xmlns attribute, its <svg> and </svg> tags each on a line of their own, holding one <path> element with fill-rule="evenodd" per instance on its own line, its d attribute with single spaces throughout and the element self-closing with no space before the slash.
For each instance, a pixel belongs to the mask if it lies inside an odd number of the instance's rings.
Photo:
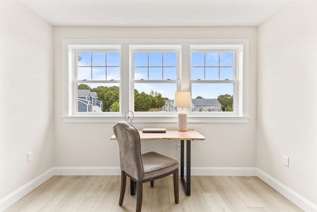
<svg viewBox="0 0 317 212">
<path fill-rule="evenodd" d="M 16 0 L 0 0 L 0 93 L 1 200 L 53 167 L 53 27 Z"/>
</svg>

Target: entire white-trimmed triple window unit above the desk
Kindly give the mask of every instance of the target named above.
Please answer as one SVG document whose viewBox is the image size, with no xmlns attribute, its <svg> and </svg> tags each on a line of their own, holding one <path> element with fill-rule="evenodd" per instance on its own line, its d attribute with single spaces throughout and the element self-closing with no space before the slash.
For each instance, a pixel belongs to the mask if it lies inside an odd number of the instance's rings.
<svg viewBox="0 0 317 212">
<path fill-rule="evenodd" d="M 247 122 L 247 40 L 65 39 L 63 53 L 64 122 L 176 122 L 175 91 L 191 91 L 189 122 Z"/>
</svg>

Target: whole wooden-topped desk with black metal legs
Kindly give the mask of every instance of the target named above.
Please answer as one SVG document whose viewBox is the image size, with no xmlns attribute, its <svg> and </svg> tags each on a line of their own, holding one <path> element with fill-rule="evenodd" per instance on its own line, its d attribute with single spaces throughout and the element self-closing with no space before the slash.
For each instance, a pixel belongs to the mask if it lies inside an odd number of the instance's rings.
<svg viewBox="0 0 317 212">
<path fill-rule="evenodd" d="M 167 130 L 166 133 L 143 133 L 139 131 L 141 141 L 146 140 L 180 140 L 180 177 L 182 180 L 183 187 L 187 196 L 190 195 L 190 159 L 191 159 L 191 141 L 194 140 L 205 140 L 202 136 L 195 130 L 187 130 L 185 132 L 180 132 L 177 130 Z M 111 136 L 110 140 L 116 140 L 115 136 Z M 186 140 L 186 181 L 184 178 L 184 141 Z M 133 184 L 133 185 L 132 185 Z M 133 191 L 132 191 L 133 189 Z M 134 183 L 131 182 L 131 194 L 134 194 Z"/>
</svg>

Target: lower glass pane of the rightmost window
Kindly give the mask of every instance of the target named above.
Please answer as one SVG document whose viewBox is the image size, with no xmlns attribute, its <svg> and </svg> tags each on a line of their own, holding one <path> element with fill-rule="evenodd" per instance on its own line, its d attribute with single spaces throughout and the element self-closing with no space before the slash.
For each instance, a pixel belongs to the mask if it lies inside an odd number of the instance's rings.
<svg viewBox="0 0 317 212">
<path fill-rule="evenodd" d="M 200 99 L 193 100 L 192 111 L 233 111 L 233 88 L 234 83 L 192 83 L 192 98 Z"/>
</svg>

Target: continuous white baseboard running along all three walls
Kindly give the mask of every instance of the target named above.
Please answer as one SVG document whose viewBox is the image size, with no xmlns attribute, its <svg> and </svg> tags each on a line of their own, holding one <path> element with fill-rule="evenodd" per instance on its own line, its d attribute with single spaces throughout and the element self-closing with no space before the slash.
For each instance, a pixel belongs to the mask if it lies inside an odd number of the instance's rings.
<svg viewBox="0 0 317 212">
<path fill-rule="evenodd" d="M 186 174 L 186 168 L 184 170 Z M 27 195 L 53 175 L 120 175 L 120 167 L 53 167 L 0 200 L 0 212 Z M 317 212 L 317 206 L 256 167 L 192 167 L 191 175 L 258 176 L 305 212 Z"/>
</svg>

